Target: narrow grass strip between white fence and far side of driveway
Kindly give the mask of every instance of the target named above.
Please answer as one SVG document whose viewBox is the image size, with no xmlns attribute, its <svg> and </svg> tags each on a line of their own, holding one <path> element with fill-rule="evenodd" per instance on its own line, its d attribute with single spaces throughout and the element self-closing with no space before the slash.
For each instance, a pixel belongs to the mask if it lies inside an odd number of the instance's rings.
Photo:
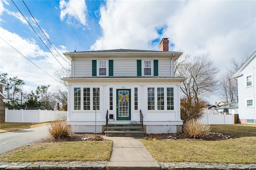
<svg viewBox="0 0 256 170">
<path fill-rule="evenodd" d="M 44 123 L 8 123 L 8 122 L 3 122 L 3 123 L 0 123 L 0 133 L 17 131 L 17 130 L 28 129 L 28 128 L 32 128 L 32 127 L 44 126 L 44 125 L 50 125 L 50 122 L 44 122 Z"/>
</svg>

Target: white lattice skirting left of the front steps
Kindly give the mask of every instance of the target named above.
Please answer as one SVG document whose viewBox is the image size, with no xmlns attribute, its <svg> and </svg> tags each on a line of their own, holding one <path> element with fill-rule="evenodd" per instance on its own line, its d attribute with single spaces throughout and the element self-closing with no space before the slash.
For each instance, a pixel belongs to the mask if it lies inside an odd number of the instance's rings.
<svg viewBox="0 0 256 170">
<path fill-rule="evenodd" d="M 71 125 L 72 133 L 95 133 L 95 125 Z M 96 125 L 96 133 L 102 133 L 102 125 Z"/>
</svg>

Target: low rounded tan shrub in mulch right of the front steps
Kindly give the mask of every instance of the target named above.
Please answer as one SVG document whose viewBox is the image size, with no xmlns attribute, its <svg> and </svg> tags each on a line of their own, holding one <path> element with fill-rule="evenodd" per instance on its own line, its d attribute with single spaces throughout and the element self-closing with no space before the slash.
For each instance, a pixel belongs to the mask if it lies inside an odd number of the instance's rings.
<svg viewBox="0 0 256 170">
<path fill-rule="evenodd" d="M 190 119 L 184 124 L 183 131 L 190 138 L 203 138 L 210 134 L 211 128 L 197 119 Z"/>
</svg>

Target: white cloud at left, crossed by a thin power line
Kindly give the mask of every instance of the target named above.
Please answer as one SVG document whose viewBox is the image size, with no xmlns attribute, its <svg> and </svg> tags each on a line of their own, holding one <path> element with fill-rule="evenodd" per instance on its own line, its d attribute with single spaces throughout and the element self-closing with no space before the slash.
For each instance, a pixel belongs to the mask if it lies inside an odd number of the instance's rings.
<svg viewBox="0 0 256 170">
<path fill-rule="evenodd" d="M 19 51 L 22 55 L 40 67 L 42 70 L 46 71 L 48 74 L 54 77 L 54 71 L 62 68 L 58 61 L 64 66 L 68 67 L 66 63 L 57 52 L 53 52 L 56 59 L 48 52 L 42 51 L 34 40 L 22 39 L 19 35 L 15 33 L 10 33 L 9 31 L 0 28 L 1 37 L 8 42 L 12 47 Z M 54 78 L 48 76 L 34 64 L 30 63 L 17 51 L 15 51 L 10 45 L 8 45 L 2 39 L 0 39 L 0 73 L 7 72 L 9 76 L 18 76 L 18 78 L 25 81 L 26 86 L 24 90 L 30 92 L 35 90 L 37 86 L 41 85 L 51 85 L 52 89 L 58 87 L 61 88 L 61 84 L 54 80 Z M 56 47 L 55 47 L 56 48 Z M 65 47 L 61 49 L 56 48 L 60 54 L 67 52 Z M 54 51 L 51 49 L 51 51 Z M 64 56 L 62 56 L 64 57 Z"/>
</svg>

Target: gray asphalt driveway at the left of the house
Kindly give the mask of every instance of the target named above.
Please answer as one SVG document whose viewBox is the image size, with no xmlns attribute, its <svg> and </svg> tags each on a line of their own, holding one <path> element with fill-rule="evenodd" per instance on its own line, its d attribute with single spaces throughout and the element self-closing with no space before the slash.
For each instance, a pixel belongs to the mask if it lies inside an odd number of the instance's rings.
<svg viewBox="0 0 256 170">
<path fill-rule="evenodd" d="M 0 154 L 48 137 L 47 125 L 0 133 Z"/>
</svg>

